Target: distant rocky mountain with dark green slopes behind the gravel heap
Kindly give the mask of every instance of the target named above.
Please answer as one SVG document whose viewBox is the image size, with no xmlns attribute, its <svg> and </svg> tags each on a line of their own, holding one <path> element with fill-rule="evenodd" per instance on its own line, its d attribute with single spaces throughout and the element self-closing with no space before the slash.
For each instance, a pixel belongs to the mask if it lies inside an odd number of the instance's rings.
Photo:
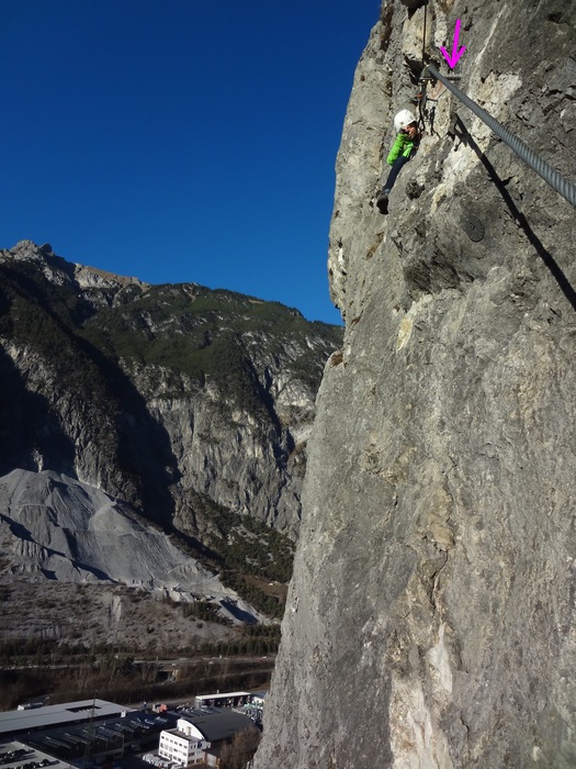
<svg viewBox="0 0 576 769">
<path fill-rule="evenodd" d="M 38 534 L 35 548 L 25 536 L 11 546 L 4 577 L 23 573 L 22 547 L 38 556 L 27 565 L 36 576 L 80 578 L 78 561 L 92 575 L 147 587 L 170 570 L 162 551 L 165 560 L 143 564 L 143 573 L 115 573 L 117 559 L 98 557 L 110 546 L 105 526 L 92 560 L 90 546 L 76 542 L 60 553 L 68 566 L 60 559 L 53 569 L 45 547 L 55 532 L 74 538 L 74 526 L 66 504 L 58 513 L 50 494 L 41 503 L 50 483 L 67 487 L 61 499 L 72 506 L 90 490 L 94 504 L 75 531 L 91 531 L 94 515 L 112 525 L 117 503 L 123 520 L 131 510 L 140 527 L 148 521 L 179 535 L 189 560 L 192 548 L 221 568 L 270 577 L 280 553 L 287 573 L 316 391 L 340 342 L 338 327 L 231 291 L 148 286 L 70 264 L 49 244 L 23 241 L 0 252 L 0 513 L 12 534 L 22 526 Z M 34 502 L 16 501 L 14 472 L 29 473 Z M 108 517 L 98 512 L 100 492 Z M 56 528 L 20 521 L 22 506 L 52 516 Z M 191 589 L 181 566 L 176 558 L 170 568 L 179 573 L 163 587 Z"/>
</svg>

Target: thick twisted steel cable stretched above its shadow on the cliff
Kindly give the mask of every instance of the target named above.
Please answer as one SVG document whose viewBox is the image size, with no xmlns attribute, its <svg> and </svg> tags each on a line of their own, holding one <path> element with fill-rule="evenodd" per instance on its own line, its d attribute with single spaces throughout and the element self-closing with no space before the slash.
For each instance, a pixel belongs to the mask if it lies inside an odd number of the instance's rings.
<svg viewBox="0 0 576 769">
<path fill-rule="evenodd" d="M 429 64 L 422 70 L 422 80 L 429 81 L 430 78 L 442 82 L 456 99 L 465 104 L 468 110 L 472 110 L 486 125 L 502 140 L 526 164 L 530 166 L 539 176 L 544 179 L 556 192 L 565 198 L 568 203 L 576 207 L 576 185 L 564 178 L 560 171 L 553 168 L 549 163 L 537 155 L 528 145 L 526 145 L 518 136 L 515 136 L 508 129 L 493 118 L 475 101 L 472 101 L 460 88 L 456 88 L 449 78 L 440 75 L 438 69 Z"/>
</svg>

